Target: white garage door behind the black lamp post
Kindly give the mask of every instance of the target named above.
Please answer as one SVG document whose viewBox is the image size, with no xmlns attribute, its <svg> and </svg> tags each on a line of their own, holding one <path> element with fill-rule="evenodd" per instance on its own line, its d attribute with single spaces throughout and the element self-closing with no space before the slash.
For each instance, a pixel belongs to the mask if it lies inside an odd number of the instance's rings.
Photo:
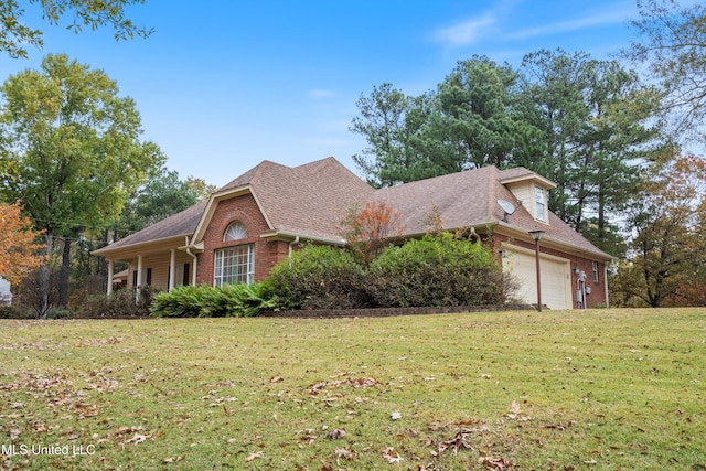
<svg viewBox="0 0 706 471">
<path fill-rule="evenodd" d="M 534 251 L 505 247 L 503 268 L 520 283 L 517 298 L 530 304 L 537 303 L 537 268 Z M 571 267 L 568 260 L 542 254 L 542 303 L 549 309 L 571 309 Z"/>
</svg>

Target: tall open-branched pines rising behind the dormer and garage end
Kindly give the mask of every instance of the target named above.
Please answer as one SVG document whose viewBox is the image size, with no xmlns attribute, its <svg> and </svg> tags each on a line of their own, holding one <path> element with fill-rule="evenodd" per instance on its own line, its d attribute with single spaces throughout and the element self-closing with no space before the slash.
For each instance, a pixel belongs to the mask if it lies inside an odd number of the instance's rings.
<svg viewBox="0 0 706 471">
<path fill-rule="evenodd" d="M 624 208 L 640 169 L 671 149 L 654 119 L 659 92 L 616 61 L 543 50 L 523 61 L 522 95 L 521 113 L 546 152 L 526 167 L 558 185 L 550 210 L 616 253 L 609 214 Z"/>
</svg>

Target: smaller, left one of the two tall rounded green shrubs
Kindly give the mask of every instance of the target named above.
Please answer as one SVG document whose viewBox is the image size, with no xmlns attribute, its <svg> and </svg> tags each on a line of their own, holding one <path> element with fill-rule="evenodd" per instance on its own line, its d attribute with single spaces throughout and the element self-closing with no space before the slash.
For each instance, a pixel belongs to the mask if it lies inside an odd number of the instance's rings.
<svg viewBox="0 0 706 471">
<path fill-rule="evenodd" d="M 353 309 L 367 307 L 364 272 L 350 251 L 311 245 L 275 266 L 268 281 L 281 309 Z"/>
</svg>

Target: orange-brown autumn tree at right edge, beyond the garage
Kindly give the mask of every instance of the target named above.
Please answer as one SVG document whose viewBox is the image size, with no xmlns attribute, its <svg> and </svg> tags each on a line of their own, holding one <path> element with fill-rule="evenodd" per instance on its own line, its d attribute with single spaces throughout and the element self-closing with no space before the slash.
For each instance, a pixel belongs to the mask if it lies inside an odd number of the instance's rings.
<svg viewBox="0 0 706 471">
<path fill-rule="evenodd" d="M 654 173 L 634 199 L 631 260 L 619 275 L 635 280 L 630 295 L 657 308 L 704 286 L 706 160 L 682 156 Z"/>
</svg>

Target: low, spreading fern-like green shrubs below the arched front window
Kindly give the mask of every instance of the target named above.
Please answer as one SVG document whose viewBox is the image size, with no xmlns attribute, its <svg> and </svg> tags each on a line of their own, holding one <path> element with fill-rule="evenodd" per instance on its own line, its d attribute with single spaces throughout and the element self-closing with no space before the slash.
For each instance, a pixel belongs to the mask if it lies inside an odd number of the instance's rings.
<svg viewBox="0 0 706 471">
<path fill-rule="evenodd" d="M 271 285 L 181 286 L 160 292 L 150 306 L 157 318 L 250 318 L 276 309 L 279 302 Z"/>
</svg>

